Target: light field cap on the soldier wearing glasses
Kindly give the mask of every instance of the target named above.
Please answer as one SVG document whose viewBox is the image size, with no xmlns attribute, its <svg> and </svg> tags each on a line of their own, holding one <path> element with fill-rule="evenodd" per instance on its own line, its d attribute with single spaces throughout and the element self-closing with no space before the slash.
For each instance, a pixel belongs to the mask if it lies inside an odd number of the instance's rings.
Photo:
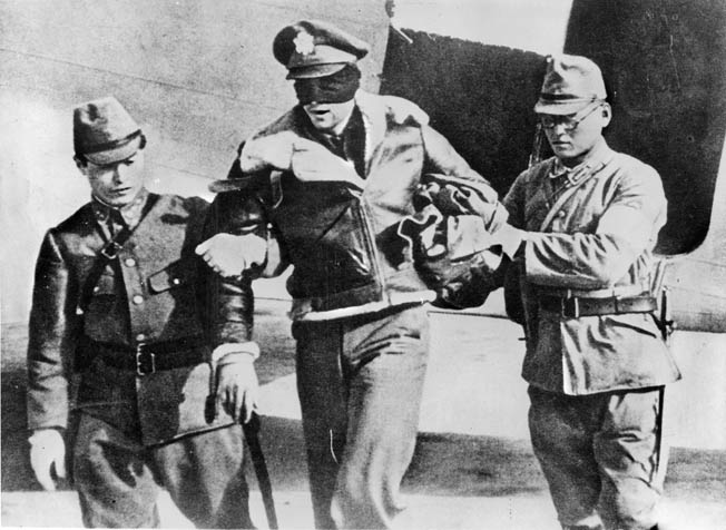
<svg viewBox="0 0 726 530">
<path fill-rule="evenodd" d="M 607 98 L 600 68 L 587 57 L 550 56 L 534 112 L 576 114 Z"/>
</svg>

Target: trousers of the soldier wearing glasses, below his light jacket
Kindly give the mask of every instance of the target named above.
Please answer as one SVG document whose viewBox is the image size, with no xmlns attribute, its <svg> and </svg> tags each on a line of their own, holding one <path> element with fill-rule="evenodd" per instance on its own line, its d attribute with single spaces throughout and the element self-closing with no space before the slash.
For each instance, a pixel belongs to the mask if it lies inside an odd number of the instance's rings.
<svg viewBox="0 0 726 530">
<path fill-rule="evenodd" d="M 570 396 L 529 389 L 529 428 L 563 528 L 657 524 L 661 389 Z"/>
</svg>

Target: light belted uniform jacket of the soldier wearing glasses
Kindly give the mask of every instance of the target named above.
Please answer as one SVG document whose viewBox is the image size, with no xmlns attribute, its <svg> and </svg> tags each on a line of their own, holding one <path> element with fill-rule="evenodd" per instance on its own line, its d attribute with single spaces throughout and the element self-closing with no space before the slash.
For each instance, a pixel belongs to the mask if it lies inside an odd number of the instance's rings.
<svg viewBox="0 0 726 530">
<path fill-rule="evenodd" d="M 567 317 L 540 307 L 543 295 L 612 298 L 650 292 L 651 252 L 666 222 L 660 177 L 605 140 L 576 173 L 573 185 L 550 158 L 522 173 L 504 198 L 510 223 L 529 232 L 521 266 L 522 375 L 571 395 L 675 381 L 680 374 L 653 314 Z M 561 195 L 568 198 L 558 200 Z"/>
</svg>

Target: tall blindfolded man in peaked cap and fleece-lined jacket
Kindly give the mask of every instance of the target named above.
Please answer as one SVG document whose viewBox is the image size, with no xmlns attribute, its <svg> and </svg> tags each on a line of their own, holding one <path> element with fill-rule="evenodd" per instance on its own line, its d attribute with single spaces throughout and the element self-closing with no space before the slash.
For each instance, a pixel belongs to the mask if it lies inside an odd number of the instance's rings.
<svg viewBox="0 0 726 530">
<path fill-rule="evenodd" d="M 396 237 L 419 185 L 436 174 L 442 187 L 478 197 L 470 217 L 487 227 L 506 217 L 419 107 L 360 89 L 367 50 L 326 22 L 279 31 L 273 52 L 298 105 L 247 139 L 214 187 L 228 192 L 217 197 L 224 218 L 268 224 L 276 237 L 258 245 L 218 234 L 198 248 L 233 277 L 294 265 L 287 288 L 318 528 L 390 528 L 403 509 L 428 361 L 424 303 L 435 297 Z"/>
</svg>

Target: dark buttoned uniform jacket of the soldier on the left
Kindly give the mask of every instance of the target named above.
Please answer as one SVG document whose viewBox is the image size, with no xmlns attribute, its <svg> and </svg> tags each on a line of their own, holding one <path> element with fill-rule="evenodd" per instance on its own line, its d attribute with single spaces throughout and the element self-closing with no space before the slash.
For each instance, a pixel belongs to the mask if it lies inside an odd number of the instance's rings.
<svg viewBox="0 0 726 530">
<path fill-rule="evenodd" d="M 146 193 L 141 198 L 140 206 L 154 206 L 102 272 L 82 315 L 77 314 L 80 292 L 108 238 L 108 208 L 89 203 L 46 234 L 30 315 L 30 429 L 66 428 L 73 406 L 140 435 L 146 444 L 230 422 L 223 412 L 212 423 L 205 416 L 212 380 L 204 360 L 219 343 L 249 340 L 248 322 L 225 317 L 227 308 L 251 311 L 245 306 L 249 292 L 243 285 L 218 293 L 194 253 L 203 241 L 206 202 Z M 225 297 L 218 314 L 206 312 L 209 296 Z M 192 365 L 137 376 L 105 361 L 118 355 L 133 363 L 139 344 L 153 351 L 155 343 L 182 340 L 192 341 L 194 352 L 179 346 L 170 354 L 197 357 Z M 89 341 L 105 344 L 104 355 Z M 76 386 L 77 395 L 70 395 Z"/>
</svg>

